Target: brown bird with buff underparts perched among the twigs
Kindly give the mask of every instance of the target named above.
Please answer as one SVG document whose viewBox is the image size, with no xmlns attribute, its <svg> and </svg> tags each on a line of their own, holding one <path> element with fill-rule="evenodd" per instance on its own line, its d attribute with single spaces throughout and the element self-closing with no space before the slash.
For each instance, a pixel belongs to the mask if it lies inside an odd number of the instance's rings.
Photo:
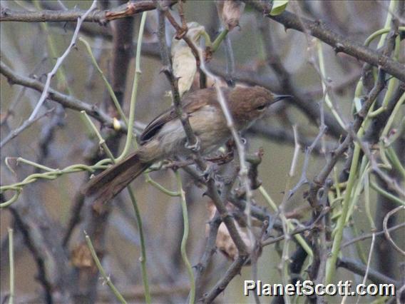
<svg viewBox="0 0 405 304">
<path fill-rule="evenodd" d="M 275 95 L 260 86 L 222 88 L 222 93 L 238 131 L 249 128 L 272 103 L 291 97 Z M 183 112 L 200 141 L 202 155 L 215 151 L 231 137 L 215 88 L 189 93 L 183 99 Z M 172 107 L 148 124 L 140 135 L 138 151 L 92 178 L 83 193 L 98 202 L 109 201 L 153 163 L 173 156 L 190 156 L 186 142 L 183 126 Z"/>
</svg>

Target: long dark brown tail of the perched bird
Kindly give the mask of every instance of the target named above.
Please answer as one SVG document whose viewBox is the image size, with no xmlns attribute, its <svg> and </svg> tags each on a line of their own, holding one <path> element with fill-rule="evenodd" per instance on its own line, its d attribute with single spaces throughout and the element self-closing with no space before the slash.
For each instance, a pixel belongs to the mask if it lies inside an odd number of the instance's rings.
<svg viewBox="0 0 405 304">
<path fill-rule="evenodd" d="M 91 178 L 83 188 L 82 193 L 90 196 L 97 203 L 106 203 L 128 186 L 131 181 L 140 176 L 149 166 L 150 163 L 140 160 L 138 152 L 130 154 L 123 161 Z"/>
</svg>

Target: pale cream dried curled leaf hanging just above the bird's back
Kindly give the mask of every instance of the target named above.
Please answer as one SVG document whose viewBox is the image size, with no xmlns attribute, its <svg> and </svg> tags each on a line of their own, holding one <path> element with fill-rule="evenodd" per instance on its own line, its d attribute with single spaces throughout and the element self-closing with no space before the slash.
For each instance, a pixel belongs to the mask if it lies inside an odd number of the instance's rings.
<svg viewBox="0 0 405 304">
<path fill-rule="evenodd" d="M 186 36 L 198 47 L 200 37 L 205 32 L 205 27 L 197 22 L 190 22 L 187 26 L 188 32 Z M 193 79 L 197 72 L 197 62 L 190 46 L 183 39 L 178 40 L 173 37 L 171 55 L 173 74 L 178 78 L 178 90 L 180 96 L 183 96 L 185 92 L 190 90 L 193 84 Z"/>
</svg>

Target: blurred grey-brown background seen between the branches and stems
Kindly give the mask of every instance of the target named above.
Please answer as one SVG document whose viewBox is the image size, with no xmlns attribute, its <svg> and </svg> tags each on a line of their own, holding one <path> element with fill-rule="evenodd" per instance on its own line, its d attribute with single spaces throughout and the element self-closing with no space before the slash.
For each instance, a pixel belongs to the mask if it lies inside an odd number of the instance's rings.
<svg viewBox="0 0 405 304">
<path fill-rule="evenodd" d="M 99 9 L 110 9 L 125 1 L 99 1 Z M 42 9 L 88 9 L 91 1 L 1 1 L 3 8 L 16 11 L 36 11 Z M 288 11 L 312 20 L 322 20 L 329 29 L 349 37 L 352 41 L 364 44 L 374 31 L 384 27 L 389 1 L 289 1 Z M 186 1 L 185 19 L 205 26 L 212 41 L 220 33 L 222 24 L 217 13 L 215 1 Z M 178 17 L 177 5 L 173 6 L 173 16 Z M 404 18 L 404 16 L 402 16 Z M 403 21 L 404 19 L 402 19 Z M 79 37 L 91 45 L 96 61 L 107 76 L 118 100 L 122 101 L 124 112 L 128 115 L 130 94 L 135 72 L 135 49 L 138 38 L 140 14 L 128 19 L 111 21 L 106 25 L 84 23 Z M 158 49 L 158 13 L 148 11 L 145 34 L 143 36 L 140 62 L 140 82 L 135 108 L 135 127 L 140 130 L 161 111 L 170 107 L 171 99 L 166 92 L 170 84 L 165 78 Z M 55 64 L 56 56 L 61 56 L 71 41 L 75 24 L 71 22 L 24 23 L 1 22 L 1 61 L 16 74 L 36 78 L 44 82 L 46 74 Z M 170 46 L 175 34 L 173 26 L 166 24 L 167 42 Z M 245 6 L 240 16 L 239 26 L 227 35 L 220 48 L 212 55 L 207 69 L 220 76 L 223 85 L 236 83 L 241 86 L 260 85 L 276 93 L 297 96 L 299 100 L 317 108 L 324 98 L 322 81 L 319 77 L 319 58 L 317 41 L 312 36 L 294 30 L 286 30 L 282 24 L 264 18 L 262 14 Z M 376 49 L 379 39 L 370 47 Z M 403 53 L 399 61 L 404 62 Z M 227 50 L 228 48 L 228 50 Z M 233 62 L 229 61 L 229 48 Z M 352 121 L 352 101 L 357 81 L 362 76 L 363 63 L 344 53 L 335 54 L 332 47 L 322 44 L 325 73 L 329 85 L 329 96 L 337 106 L 345 122 Z M 231 63 L 231 65 L 230 65 Z M 234 67 L 232 69 L 232 64 Z M 277 69 L 281 66 L 282 71 Z M 81 41 L 68 54 L 59 74 L 51 81 L 51 88 L 74 96 L 80 101 L 94 104 L 111 116 L 117 116 L 103 80 L 91 62 L 86 47 Z M 63 76 L 61 76 L 63 75 Z M 287 78 L 286 78 L 287 77 Z M 287 81 L 287 82 L 286 82 Z M 288 83 L 288 88 L 286 87 Z M 33 111 L 41 93 L 31 88 L 14 85 L 0 76 L 1 89 L 1 139 L 18 128 Z M 210 84 L 210 79 L 208 79 Z M 198 88 L 198 80 L 191 90 Z M 52 111 L 50 111 L 53 109 Z M 344 131 L 339 126 L 329 108 L 324 110 L 332 124 L 322 145 L 317 144 L 309 158 L 307 177 L 309 181 L 319 172 L 325 163 L 325 152 L 335 147 Z M 10 171 L 5 166 L 5 158 L 21 157 L 40 163 L 49 168 L 66 168 L 73 164 L 93 164 L 103 158 L 98 139 L 88 131 L 86 122 L 79 111 L 64 108 L 51 100 L 41 107 L 41 114 L 48 113 L 19 133 L 1 147 L 1 186 L 22 181 L 26 176 L 39 172 L 26 163 L 11 162 Z M 319 118 L 319 115 L 317 114 Z M 119 132 L 101 126 L 103 136 L 108 138 L 113 153 L 118 156 L 122 151 L 125 136 Z M 285 101 L 273 107 L 268 115 L 243 136 L 247 138 L 247 148 L 255 153 L 263 148 L 264 156 L 259 166 L 259 178 L 276 204 L 281 203 L 287 182 L 287 174 L 294 154 L 294 136 L 292 125 L 297 133 L 302 149 L 299 152 L 297 172 L 292 185 L 299 181 L 304 161 L 304 148 L 309 146 L 319 133 L 319 119 L 311 116 L 304 106 L 297 102 Z M 344 159 L 337 165 L 337 172 Z M 235 166 L 230 163 L 226 166 Z M 226 173 L 226 168 L 223 171 Z M 187 251 L 190 263 L 197 265 L 206 245 L 207 206 L 210 199 L 204 196 L 205 187 L 196 185 L 188 173 L 181 171 L 183 189 L 186 193 L 190 235 Z M 175 191 L 177 183 L 173 171 L 163 170 L 150 173 L 154 181 Z M 86 268 L 86 259 L 91 259 L 82 248 L 83 230 L 86 230 L 102 258 L 106 273 L 126 300 L 131 303 L 143 302 L 143 284 L 140 269 L 140 239 L 133 209 L 128 194 L 122 193 L 103 210 L 95 210 L 80 193 L 80 188 L 88 181 L 86 172 L 63 174 L 55 180 L 38 180 L 21 192 L 18 200 L 9 208 L 1 209 L 1 298 L 9 290 L 9 259 L 7 228 L 14 228 L 16 303 L 46 303 L 44 284 L 46 281 L 56 286 L 79 286 L 77 293 L 82 303 L 115 303 L 116 300 L 97 270 Z M 292 187 L 290 187 L 292 188 Z M 184 303 L 188 296 L 190 283 L 180 255 L 180 243 L 183 237 L 183 216 L 178 197 L 170 197 L 158 191 L 142 176 L 133 182 L 135 197 L 143 220 L 146 242 L 147 269 L 150 292 L 153 302 Z M 287 202 L 287 211 L 299 214 L 298 220 L 304 223 L 311 218 L 311 210 L 304 198 L 308 186 L 304 185 Z M 1 194 L 6 201 L 14 193 Z M 258 191 L 254 193 L 257 206 L 267 206 Z M 389 202 L 388 202 L 389 203 Z M 387 204 L 388 204 L 387 203 Z M 385 204 L 382 198 L 371 192 L 371 208 L 374 216 Z M 387 205 L 384 205 L 385 207 Z M 268 208 L 268 207 L 267 207 Z M 355 206 L 351 225 L 344 231 L 344 242 L 369 233 L 369 221 L 364 216 L 362 200 Z M 381 211 L 382 212 L 382 211 Z M 385 212 L 386 213 L 386 212 Z M 385 214 L 384 213 L 384 214 Z M 376 221 L 377 220 L 376 216 Z M 399 214 L 396 223 L 404 222 L 404 214 Z M 396 230 L 392 237 L 404 248 L 404 232 Z M 31 243 L 28 243 L 31 240 Z M 381 240 L 380 238 L 378 239 Z M 382 242 L 382 240 L 381 240 Z M 357 243 L 366 255 L 371 240 Z M 43 244 L 41 246 L 41 244 Z M 384 247 L 388 246 L 388 248 Z M 381 273 L 401 280 L 399 263 L 404 257 L 385 244 L 376 246 L 371 267 Z M 282 245 L 265 246 L 258 261 L 257 278 L 266 283 L 281 283 L 280 248 Z M 82 250 L 83 249 L 83 250 Z M 356 244 L 342 250 L 344 256 L 357 258 Z M 79 260 L 79 261 L 77 261 Z M 91 261 L 88 262 L 91 265 Z M 202 280 L 202 293 L 206 293 L 224 275 L 231 261 L 217 251 L 210 261 Z M 71 269 L 74 274 L 71 273 Z M 63 278 L 65 269 L 71 276 Z M 45 277 L 44 277 L 45 276 Z M 243 281 L 252 278 L 251 268 L 242 268 L 230 285 L 215 300 L 216 303 L 253 303 L 253 297 L 242 293 Z M 362 276 L 354 275 L 339 268 L 337 278 L 361 283 Z M 73 283 L 65 280 L 74 280 Z M 76 287 L 77 288 L 77 287 Z M 58 293 L 53 290 L 53 300 L 58 302 Z M 76 298 L 77 300 L 77 298 Z M 336 299 L 337 302 L 340 300 Z M 362 298 L 360 303 L 371 303 L 372 298 Z M 268 302 L 268 300 L 265 300 Z M 297 300 L 299 303 L 304 301 Z M 334 301 L 331 301 L 332 303 Z"/>
</svg>

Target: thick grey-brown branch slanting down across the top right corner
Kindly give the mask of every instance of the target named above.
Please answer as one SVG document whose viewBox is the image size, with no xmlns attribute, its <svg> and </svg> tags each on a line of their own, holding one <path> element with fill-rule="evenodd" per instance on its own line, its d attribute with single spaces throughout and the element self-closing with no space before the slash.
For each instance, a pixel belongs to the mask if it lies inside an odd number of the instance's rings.
<svg viewBox="0 0 405 304">
<path fill-rule="evenodd" d="M 265 14 L 266 7 L 261 1 L 245 2 L 250 4 L 257 11 Z M 322 21 L 311 21 L 301 16 L 298 17 L 289 11 L 284 11 L 277 16 L 271 16 L 270 14 L 266 14 L 266 16 L 283 24 L 285 29 L 295 29 L 317 37 L 317 39 L 322 40 L 325 44 L 332 46 L 336 53 L 342 52 L 353 56 L 356 59 L 371 64 L 371 66 L 379 67 L 386 73 L 401 81 L 405 81 L 405 66 L 403 64 L 399 64 L 399 62 L 390 59 L 389 56 L 379 54 L 366 46 L 362 46 L 362 44 L 347 39 L 344 36 L 327 29 Z"/>
</svg>

